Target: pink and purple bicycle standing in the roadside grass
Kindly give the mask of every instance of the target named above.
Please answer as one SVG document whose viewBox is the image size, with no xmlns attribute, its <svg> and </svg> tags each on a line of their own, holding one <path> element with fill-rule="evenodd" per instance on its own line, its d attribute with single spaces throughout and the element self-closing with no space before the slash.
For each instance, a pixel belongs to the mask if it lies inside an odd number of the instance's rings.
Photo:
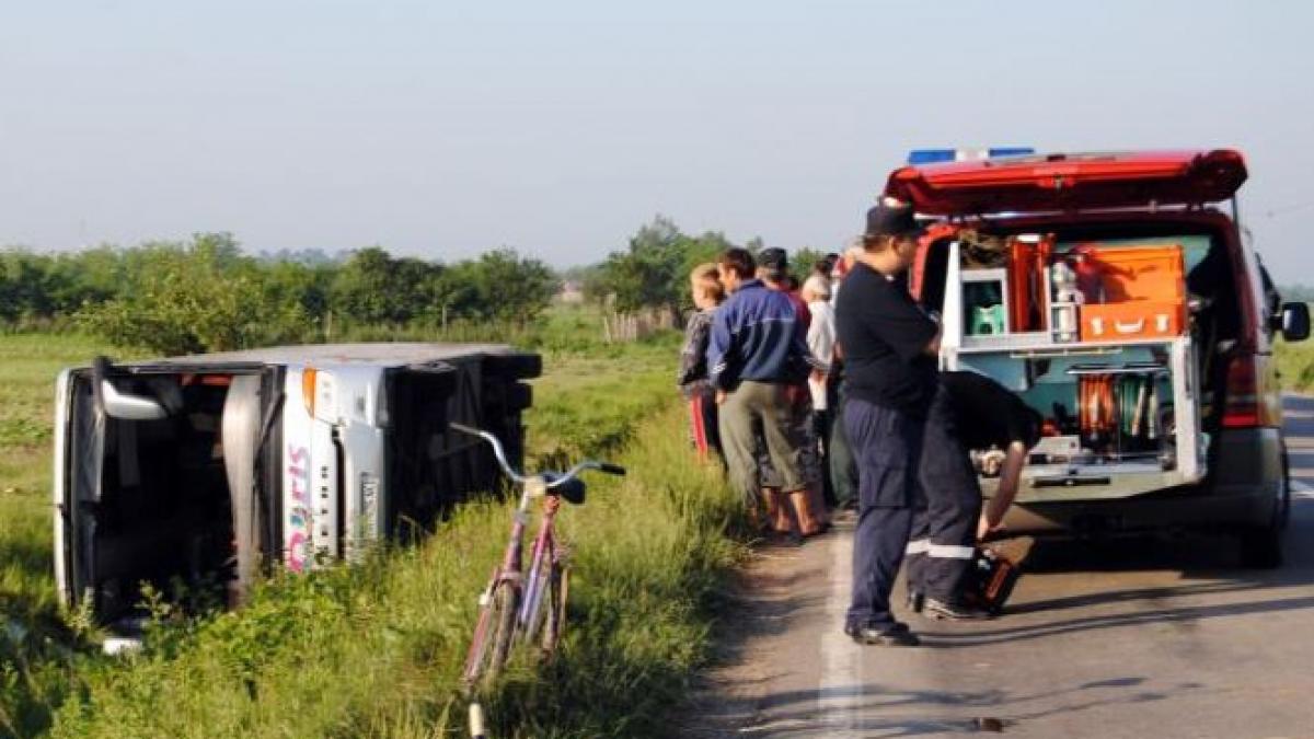
<svg viewBox="0 0 1314 739">
<path fill-rule="evenodd" d="M 486 688 L 493 682 L 506 664 L 512 643 L 532 644 L 537 640 L 545 656 L 556 651 L 565 626 L 570 581 L 566 552 L 557 542 L 553 526 L 557 509 L 562 498 L 572 505 L 583 504 L 586 488 L 579 479 L 581 472 L 597 469 L 608 475 L 624 475 L 625 468 L 606 462 L 585 460 L 565 473 L 523 475 L 511 467 L 502 442 L 491 433 L 461 423 L 448 423 L 448 426 L 487 442 L 502 472 L 520 487 L 520 502 L 511 519 L 511 536 L 506 554 L 502 563 L 493 568 L 487 586 L 480 593 L 480 618 L 474 625 L 474 636 L 463 672 L 463 682 L 469 696 L 476 688 Z M 540 497 L 544 498 L 543 518 L 533 540 L 530 569 L 524 571 L 520 560 L 524 533 L 530 525 L 530 505 Z M 528 572 L 527 580 L 526 572 Z M 482 738 L 484 713 L 477 701 L 470 702 L 469 723 L 470 735 L 476 739 Z"/>
</svg>

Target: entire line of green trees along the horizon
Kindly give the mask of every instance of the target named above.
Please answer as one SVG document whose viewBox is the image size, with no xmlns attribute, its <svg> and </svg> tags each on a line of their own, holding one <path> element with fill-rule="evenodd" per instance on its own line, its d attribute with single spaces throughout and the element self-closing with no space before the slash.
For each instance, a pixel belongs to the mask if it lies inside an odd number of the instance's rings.
<svg viewBox="0 0 1314 739">
<path fill-rule="evenodd" d="M 657 216 L 625 249 L 561 275 L 510 249 L 452 263 L 381 247 L 336 258 L 317 250 L 248 256 L 227 233 L 64 254 L 5 249 L 0 329 L 75 327 L 167 355 L 399 335 L 469 338 L 524 327 L 562 280 L 618 313 L 678 316 L 691 308 L 690 271 L 732 246 L 719 231 L 690 235 Z M 742 246 L 756 252 L 762 241 Z M 803 250 L 792 262 L 805 274 L 819 256 Z"/>
</svg>

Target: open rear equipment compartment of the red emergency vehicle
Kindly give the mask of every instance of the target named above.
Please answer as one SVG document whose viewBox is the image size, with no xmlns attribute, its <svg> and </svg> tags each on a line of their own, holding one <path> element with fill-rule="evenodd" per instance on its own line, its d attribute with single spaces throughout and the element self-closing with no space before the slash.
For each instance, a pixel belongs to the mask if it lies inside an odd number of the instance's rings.
<svg viewBox="0 0 1314 739">
<path fill-rule="evenodd" d="M 1238 326 L 1230 262 L 1201 226 L 961 229 L 932 245 L 920 283 L 943 316 L 945 368 L 988 375 L 1045 418 L 1020 500 L 1202 479 L 1219 379 L 1200 347 Z"/>
</svg>

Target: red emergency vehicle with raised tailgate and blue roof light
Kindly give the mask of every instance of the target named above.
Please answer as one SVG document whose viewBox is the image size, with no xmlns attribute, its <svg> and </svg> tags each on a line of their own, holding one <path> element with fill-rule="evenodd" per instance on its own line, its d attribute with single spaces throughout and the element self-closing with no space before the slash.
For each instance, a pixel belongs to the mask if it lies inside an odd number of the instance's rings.
<svg viewBox="0 0 1314 739">
<path fill-rule="evenodd" d="M 1014 153 L 1009 153 L 1014 154 Z M 1045 418 L 1017 533 L 1221 529 L 1273 567 L 1290 512 L 1281 304 L 1238 225 L 1240 153 L 918 153 L 884 195 L 932 221 L 912 274 L 941 366 Z M 986 496 L 991 455 L 974 450 Z"/>
</svg>

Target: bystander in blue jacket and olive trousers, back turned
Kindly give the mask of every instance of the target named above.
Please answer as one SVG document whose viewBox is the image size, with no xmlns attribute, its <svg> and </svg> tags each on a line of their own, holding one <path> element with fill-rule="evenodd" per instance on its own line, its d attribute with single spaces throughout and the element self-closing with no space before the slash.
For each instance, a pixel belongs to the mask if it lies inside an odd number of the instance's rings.
<svg viewBox="0 0 1314 739">
<path fill-rule="evenodd" d="M 744 494 L 752 514 L 759 517 L 754 422 L 762 425 L 783 497 L 788 500 L 790 493 L 804 492 L 808 485 L 802 465 L 807 439 L 791 423 L 791 393 L 800 392 L 811 372 L 811 356 L 805 330 L 788 296 L 754 279 L 757 264 L 748 250 L 725 250 L 719 268 L 731 296 L 712 320 L 708 381 L 717 391 L 731 483 Z"/>
</svg>

